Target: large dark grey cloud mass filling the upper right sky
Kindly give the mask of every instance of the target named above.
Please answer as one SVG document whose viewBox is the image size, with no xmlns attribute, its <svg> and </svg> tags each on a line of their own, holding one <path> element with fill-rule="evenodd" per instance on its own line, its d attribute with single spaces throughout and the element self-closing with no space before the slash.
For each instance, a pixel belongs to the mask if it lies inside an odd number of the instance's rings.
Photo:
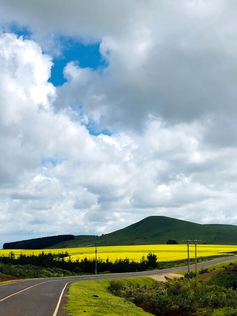
<svg viewBox="0 0 237 316">
<path fill-rule="evenodd" d="M 41 45 L 51 34 L 100 41 L 108 61 L 102 77 L 70 63 L 56 107 L 80 102 L 113 129 L 141 129 L 150 114 L 171 124 L 226 111 L 236 119 L 234 2 L 27 3 L 3 4 L 3 20 L 27 25 Z"/>
</svg>

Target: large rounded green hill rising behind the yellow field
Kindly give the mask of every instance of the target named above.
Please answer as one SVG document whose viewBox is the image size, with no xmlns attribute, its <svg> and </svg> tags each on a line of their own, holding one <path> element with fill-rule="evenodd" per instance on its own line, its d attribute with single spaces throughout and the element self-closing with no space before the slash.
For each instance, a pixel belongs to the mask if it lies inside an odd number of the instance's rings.
<svg viewBox="0 0 237 316">
<path fill-rule="evenodd" d="M 166 244 L 168 239 L 183 243 L 197 238 L 206 244 L 237 244 L 237 226 L 201 225 L 164 216 L 150 216 L 115 232 L 97 237 L 98 246 Z M 50 248 L 88 247 L 95 236 L 80 235 L 75 240 L 61 242 Z"/>
</svg>

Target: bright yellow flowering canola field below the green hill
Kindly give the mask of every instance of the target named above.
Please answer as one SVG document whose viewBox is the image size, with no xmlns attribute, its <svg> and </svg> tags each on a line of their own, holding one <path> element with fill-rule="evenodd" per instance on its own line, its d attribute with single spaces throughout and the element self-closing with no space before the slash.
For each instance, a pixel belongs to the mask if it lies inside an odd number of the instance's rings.
<svg viewBox="0 0 237 316">
<path fill-rule="evenodd" d="M 0 250 L 0 255 L 7 256 L 11 249 Z M 85 257 L 95 257 L 95 247 L 80 247 L 80 248 L 62 248 L 62 249 L 39 249 L 39 250 L 12 250 L 17 257 L 20 253 L 22 254 L 39 254 L 44 251 L 45 253 L 58 253 L 66 252 L 70 254 L 73 260 L 83 259 Z M 212 256 L 221 255 L 227 252 L 237 252 L 237 246 L 233 245 L 197 245 L 197 256 Z M 97 258 L 114 261 L 116 259 L 125 259 L 126 257 L 130 260 L 140 261 L 141 257 L 151 252 L 157 255 L 158 261 L 173 261 L 187 258 L 187 245 L 138 245 L 138 246 L 106 246 L 97 247 Z M 190 245 L 190 257 L 195 257 L 195 246 Z"/>
</svg>

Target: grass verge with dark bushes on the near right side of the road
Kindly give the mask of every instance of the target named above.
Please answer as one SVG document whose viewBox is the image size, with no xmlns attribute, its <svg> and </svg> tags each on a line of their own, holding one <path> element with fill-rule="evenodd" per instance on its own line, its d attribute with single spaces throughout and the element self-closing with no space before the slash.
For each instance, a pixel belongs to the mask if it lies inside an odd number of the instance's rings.
<svg viewBox="0 0 237 316">
<path fill-rule="evenodd" d="M 211 267 L 210 270 L 214 268 Z M 218 265 L 216 265 L 216 270 Z M 158 283 L 150 278 L 110 279 L 72 284 L 65 309 L 73 316 L 89 312 L 97 315 L 142 315 L 141 310 L 157 316 L 236 316 L 237 266 L 230 263 L 215 275 L 205 269 L 198 281 L 187 278 Z"/>
</svg>

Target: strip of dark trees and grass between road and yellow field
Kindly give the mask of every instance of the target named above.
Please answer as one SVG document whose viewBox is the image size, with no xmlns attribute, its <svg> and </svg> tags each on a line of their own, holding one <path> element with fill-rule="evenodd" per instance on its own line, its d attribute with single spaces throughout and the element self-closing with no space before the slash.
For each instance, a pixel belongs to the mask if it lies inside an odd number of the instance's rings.
<svg viewBox="0 0 237 316">
<path fill-rule="evenodd" d="M 136 272 L 158 268 L 157 257 L 149 253 L 140 262 L 127 259 L 115 262 L 97 261 L 98 273 Z M 13 251 L 8 256 L 0 256 L 0 277 L 17 276 L 24 278 L 57 277 L 95 273 L 95 259 L 71 260 L 68 253 L 44 253 L 38 255 L 20 254 L 17 258 Z"/>
</svg>

